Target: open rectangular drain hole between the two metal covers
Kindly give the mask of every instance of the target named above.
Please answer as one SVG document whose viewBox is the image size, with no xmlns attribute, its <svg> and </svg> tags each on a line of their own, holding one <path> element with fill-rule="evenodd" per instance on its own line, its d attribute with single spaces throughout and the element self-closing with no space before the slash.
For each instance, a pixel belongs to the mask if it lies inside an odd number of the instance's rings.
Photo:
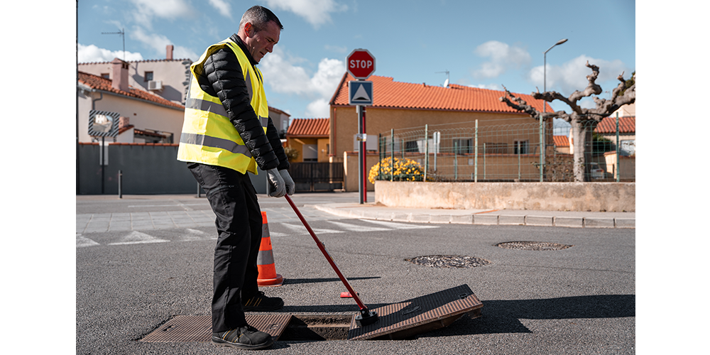
<svg viewBox="0 0 710 355">
<path fill-rule="evenodd" d="M 347 340 L 354 315 L 292 315 L 279 340 Z"/>
</svg>

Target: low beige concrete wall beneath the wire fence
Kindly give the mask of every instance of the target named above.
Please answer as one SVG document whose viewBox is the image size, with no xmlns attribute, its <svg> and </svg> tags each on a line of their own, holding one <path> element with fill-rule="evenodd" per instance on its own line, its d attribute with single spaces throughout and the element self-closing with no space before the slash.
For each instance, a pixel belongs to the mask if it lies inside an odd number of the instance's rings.
<svg viewBox="0 0 710 355">
<path fill-rule="evenodd" d="M 388 207 L 635 212 L 635 182 L 375 182 Z"/>
</svg>

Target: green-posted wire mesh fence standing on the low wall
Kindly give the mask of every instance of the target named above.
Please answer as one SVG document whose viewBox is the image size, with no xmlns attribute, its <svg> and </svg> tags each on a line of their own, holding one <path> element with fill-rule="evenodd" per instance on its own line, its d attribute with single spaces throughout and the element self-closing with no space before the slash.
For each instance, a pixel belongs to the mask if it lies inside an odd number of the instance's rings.
<svg viewBox="0 0 710 355">
<path fill-rule="evenodd" d="M 498 123 L 500 121 L 495 121 Z M 476 120 L 458 124 L 427 124 L 392 129 L 379 135 L 376 180 L 398 180 L 381 167 L 392 160 L 421 165 L 417 179 L 440 182 L 569 182 L 574 181 L 573 145 L 569 127 L 493 124 Z M 557 136 L 557 137 L 555 137 Z M 564 138 L 562 138 L 564 136 Z M 585 141 L 586 181 L 635 181 L 635 152 L 622 149 L 609 134 L 590 134 Z M 613 133 L 612 136 L 613 137 Z M 564 144 L 567 141 L 567 144 Z M 556 143 L 557 142 L 557 143 Z M 633 147 L 632 147 L 633 148 Z M 543 169 L 540 169 L 540 166 Z M 423 175 L 423 176 L 422 176 Z M 405 180 L 405 179 L 400 179 Z"/>
</svg>

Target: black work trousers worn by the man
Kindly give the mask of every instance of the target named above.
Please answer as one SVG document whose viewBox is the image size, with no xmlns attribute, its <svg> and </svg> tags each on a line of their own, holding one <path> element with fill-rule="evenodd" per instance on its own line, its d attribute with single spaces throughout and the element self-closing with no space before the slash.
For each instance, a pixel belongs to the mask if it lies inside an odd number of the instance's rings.
<svg viewBox="0 0 710 355">
<path fill-rule="evenodd" d="M 217 165 L 188 163 L 217 215 L 214 248 L 212 332 L 244 327 L 241 306 L 258 292 L 256 258 L 261 245 L 261 209 L 249 176 Z"/>
</svg>

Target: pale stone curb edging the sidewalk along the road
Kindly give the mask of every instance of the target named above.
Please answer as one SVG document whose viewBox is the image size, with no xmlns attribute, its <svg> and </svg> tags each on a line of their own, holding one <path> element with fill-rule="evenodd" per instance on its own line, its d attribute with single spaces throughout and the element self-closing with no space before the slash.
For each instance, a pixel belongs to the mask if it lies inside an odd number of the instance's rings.
<svg viewBox="0 0 710 355">
<path fill-rule="evenodd" d="M 376 219 L 390 222 L 431 224 L 476 224 L 508 226 L 564 226 L 569 228 L 636 228 L 635 218 L 535 216 L 532 214 L 422 214 L 406 212 L 382 212 L 332 208 L 321 205 L 306 205 L 322 212 L 348 218 Z"/>
</svg>

